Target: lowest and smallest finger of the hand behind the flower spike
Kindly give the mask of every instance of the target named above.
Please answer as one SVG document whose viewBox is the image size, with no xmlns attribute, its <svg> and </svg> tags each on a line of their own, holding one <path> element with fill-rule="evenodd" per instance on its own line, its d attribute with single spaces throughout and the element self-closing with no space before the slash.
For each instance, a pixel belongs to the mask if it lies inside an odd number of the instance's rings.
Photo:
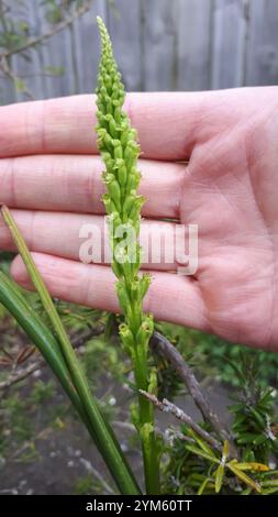
<svg viewBox="0 0 278 517">
<path fill-rule="evenodd" d="M 47 288 L 54 297 L 100 310 L 119 312 L 115 277 L 110 267 L 86 265 L 49 255 L 33 254 Z M 14 279 L 31 289 L 29 275 L 18 256 L 11 267 Z M 144 310 L 158 320 L 207 330 L 204 307 L 196 282 L 176 274 L 152 272 Z"/>
</svg>

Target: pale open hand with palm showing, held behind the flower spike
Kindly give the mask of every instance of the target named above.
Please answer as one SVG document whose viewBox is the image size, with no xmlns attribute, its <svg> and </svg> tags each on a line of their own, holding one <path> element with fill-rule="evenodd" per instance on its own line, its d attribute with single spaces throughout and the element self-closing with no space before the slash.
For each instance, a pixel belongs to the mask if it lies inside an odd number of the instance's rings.
<svg viewBox="0 0 278 517">
<path fill-rule="evenodd" d="M 199 227 L 193 277 L 176 275 L 176 264 L 173 272 L 145 264 L 153 277 L 145 310 L 278 350 L 278 88 L 131 94 L 125 108 L 142 147 L 142 231 L 163 218 Z M 119 311 L 110 266 L 78 256 L 80 226 L 103 227 L 94 99 L 2 107 L 0 121 L 0 202 L 12 209 L 52 295 Z M 0 249 L 13 250 L 3 221 Z M 32 288 L 19 256 L 11 272 Z"/>
</svg>

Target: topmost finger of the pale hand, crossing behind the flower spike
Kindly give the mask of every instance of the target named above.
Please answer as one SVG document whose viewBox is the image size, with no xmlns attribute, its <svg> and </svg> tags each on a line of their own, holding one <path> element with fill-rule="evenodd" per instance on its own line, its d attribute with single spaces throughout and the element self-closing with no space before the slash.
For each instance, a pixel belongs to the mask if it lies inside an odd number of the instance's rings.
<svg viewBox="0 0 278 517">
<path fill-rule="evenodd" d="M 210 106 L 209 92 L 129 94 L 125 110 L 138 132 L 143 157 L 185 160 Z M 0 156 L 92 154 L 96 96 L 85 95 L 0 108 Z"/>
</svg>

